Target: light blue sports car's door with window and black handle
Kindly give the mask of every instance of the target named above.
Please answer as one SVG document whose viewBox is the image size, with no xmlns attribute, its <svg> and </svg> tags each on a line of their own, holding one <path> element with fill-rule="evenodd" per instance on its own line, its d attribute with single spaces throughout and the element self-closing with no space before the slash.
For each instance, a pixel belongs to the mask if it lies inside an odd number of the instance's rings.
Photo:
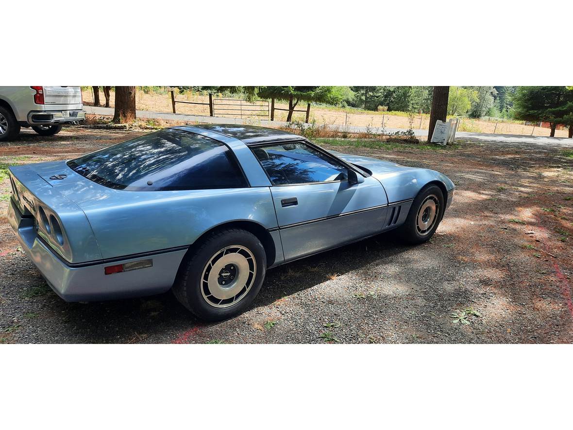
<svg viewBox="0 0 573 430">
<path fill-rule="evenodd" d="M 272 183 L 285 260 L 382 229 L 388 201 L 375 178 L 349 182 L 347 166 L 307 142 L 267 144 L 253 152 Z"/>
</svg>

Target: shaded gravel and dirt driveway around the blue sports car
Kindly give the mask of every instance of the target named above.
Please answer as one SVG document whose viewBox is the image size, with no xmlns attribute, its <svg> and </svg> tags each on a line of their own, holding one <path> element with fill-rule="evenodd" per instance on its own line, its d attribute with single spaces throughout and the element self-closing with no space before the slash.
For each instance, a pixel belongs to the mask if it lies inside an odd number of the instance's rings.
<svg viewBox="0 0 573 430">
<path fill-rule="evenodd" d="M 142 133 L 65 128 L 52 138 L 23 132 L 0 146 L 0 342 L 573 341 L 573 159 L 560 146 L 493 138 L 449 150 L 332 146 L 440 170 L 458 187 L 454 203 L 425 245 L 380 236 L 270 270 L 237 318 L 205 325 L 170 293 L 65 303 L 7 224 L 5 167 L 70 158 Z"/>
</svg>

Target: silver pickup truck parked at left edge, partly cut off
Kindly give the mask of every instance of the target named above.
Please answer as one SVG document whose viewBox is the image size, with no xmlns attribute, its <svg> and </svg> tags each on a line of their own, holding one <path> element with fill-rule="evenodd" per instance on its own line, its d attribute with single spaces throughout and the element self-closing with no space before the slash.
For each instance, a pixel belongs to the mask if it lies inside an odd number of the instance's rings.
<svg viewBox="0 0 573 430">
<path fill-rule="evenodd" d="M 0 142 L 14 140 L 20 127 L 54 135 L 63 123 L 83 121 L 82 108 L 80 87 L 0 87 Z"/>
</svg>

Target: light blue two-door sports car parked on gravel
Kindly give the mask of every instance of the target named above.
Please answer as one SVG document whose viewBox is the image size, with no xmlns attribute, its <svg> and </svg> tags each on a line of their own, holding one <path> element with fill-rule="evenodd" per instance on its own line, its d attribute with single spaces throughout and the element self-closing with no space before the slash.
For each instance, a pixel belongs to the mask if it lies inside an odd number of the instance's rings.
<svg viewBox="0 0 573 430">
<path fill-rule="evenodd" d="M 10 167 L 10 182 L 10 224 L 62 299 L 172 288 L 207 320 L 245 310 L 270 267 L 391 229 L 430 239 L 454 193 L 434 170 L 215 124 Z"/>
</svg>

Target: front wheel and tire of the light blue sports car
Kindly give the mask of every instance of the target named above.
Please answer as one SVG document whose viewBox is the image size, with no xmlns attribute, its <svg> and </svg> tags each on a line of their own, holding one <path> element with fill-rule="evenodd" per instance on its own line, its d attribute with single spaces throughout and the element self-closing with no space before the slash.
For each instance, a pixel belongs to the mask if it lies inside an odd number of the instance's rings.
<svg viewBox="0 0 573 430">
<path fill-rule="evenodd" d="M 430 202 L 432 201 L 432 202 Z M 428 202 L 426 204 L 426 202 Z M 418 216 L 421 216 L 423 223 L 423 215 L 426 213 L 426 209 L 431 209 L 431 205 L 435 204 L 437 208 L 434 210 L 434 217 L 433 221 L 427 224 L 427 229 L 421 229 L 418 224 Z M 426 206 L 426 209 L 422 209 L 422 206 Z M 428 208 L 427 205 L 430 205 Z M 400 240 L 408 243 L 408 244 L 421 244 L 424 243 L 434 235 L 435 230 L 438 228 L 440 221 L 442 221 L 442 217 L 444 216 L 444 194 L 439 186 L 434 184 L 428 184 L 423 187 L 414 201 L 410 206 L 410 212 L 408 212 L 408 216 L 406 217 L 406 221 L 404 224 L 399 226 L 396 229 L 397 237 Z M 428 210 L 429 214 L 431 214 L 431 210 Z M 427 218 L 429 221 L 429 217 Z"/>
</svg>

